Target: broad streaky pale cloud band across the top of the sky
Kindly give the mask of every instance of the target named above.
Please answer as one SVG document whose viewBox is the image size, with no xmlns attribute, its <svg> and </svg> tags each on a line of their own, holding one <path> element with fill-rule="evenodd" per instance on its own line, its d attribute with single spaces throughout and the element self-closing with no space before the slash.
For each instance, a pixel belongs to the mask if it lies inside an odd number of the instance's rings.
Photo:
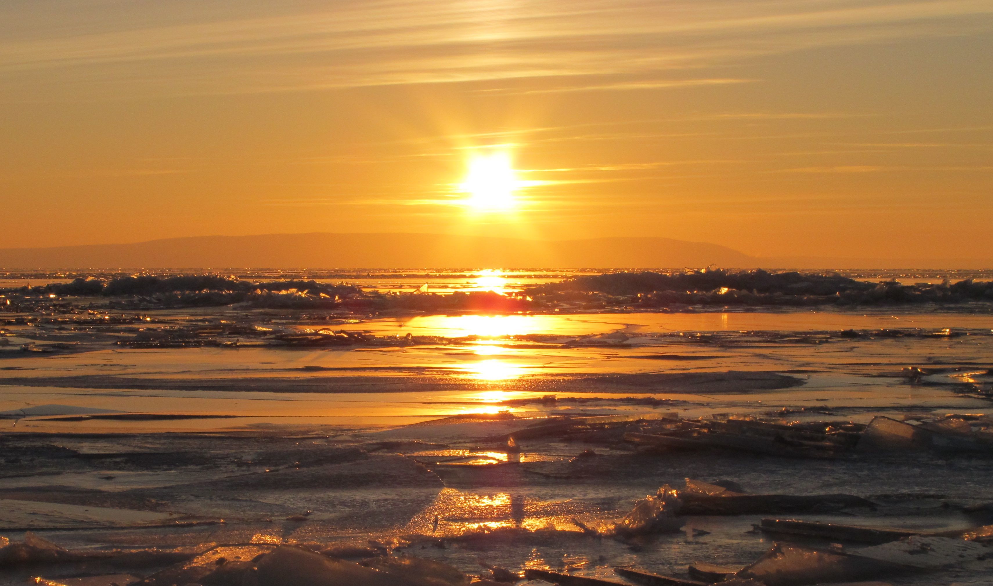
<svg viewBox="0 0 993 586">
<path fill-rule="evenodd" d="M 7 92 L 48 80 L 91 93 L 293 91 L 636 75 L 582 91 L 739 83 L 687 68 L 811 47 L 986 31 L 988 0 L 8 0 Z M 45 6 L 41 6 L 45 5 Z M 58 5 L 59 10 L 51 10 Z M 55 72 L 58 70 L 58 72 Z M 53 71 L 39 74 L 39 72 Z"/>
</svg>

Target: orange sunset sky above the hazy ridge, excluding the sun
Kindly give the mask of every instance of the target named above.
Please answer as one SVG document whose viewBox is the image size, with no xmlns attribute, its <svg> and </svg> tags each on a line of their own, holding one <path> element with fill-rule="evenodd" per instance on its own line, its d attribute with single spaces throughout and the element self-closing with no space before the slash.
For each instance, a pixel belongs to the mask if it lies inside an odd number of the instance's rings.
<svg viewBox="0 0 993 586">
<path fill-rule="evenodd" d="M 993 258 L 989 0 L 6 0 L 3 247 L 665 236 Z M 475 154 L 527 186 L 460 202 Z"/>
</svg>

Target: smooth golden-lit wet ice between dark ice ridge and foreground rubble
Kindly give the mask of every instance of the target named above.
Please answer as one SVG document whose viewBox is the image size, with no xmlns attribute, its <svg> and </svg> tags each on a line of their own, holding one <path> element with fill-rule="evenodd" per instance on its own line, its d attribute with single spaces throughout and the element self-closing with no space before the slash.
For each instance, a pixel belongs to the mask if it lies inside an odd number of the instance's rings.
<svg viewBox="0 0 993 586">
<path fill-rule="evenodd" d="M 168 314 L 163 320 L 202 318 L 163 313 Z M 502 409 L 499 401 L 544 394 L 651 396 L 685 402 L 680 409 L 703 411 L 761 410 L 824 400 L 832 407 L 867 411 L 969 410 L 985 404 L 955 391 L 977 385 L 989 390 L 990 383 L 983 380 L 988 375 L 982 373 L 990 362 L 993 339 L 984 326 L 991 322 L 986 315 L 955 313 L 462 315 L 335 326 L 377 335 L 438 336 L 438 343 L 407 347 L 127 349 L 97 340 L 84 342 L 84 352 L 6 355 L 0 363 L 6 385 L 0 410 L 55 404 L 242 418 L 138 424 L 124 417 L 74 417 L 61 425 L 54 417 L 32 416 L 5 419 L 0 425 L 141 430 L 232 429 L 261 423 L 402 424 L 472 410 L 494 412 Z M 880 328 L 886 332 L 862 338 L 842 333 Z M 945 328 L 949 331 L 942 332 Z M 117 330 L 124 330 L 115 333 L 117 337 L 133 335 L 127 328 L 109 328 L 99 335 Z M 85 337 L 91 332 L 56 333 Z M 54 334 L 45 332 L 42 337 L 50 335 Z M 908 366 L 957 370 L 908 385 L 901 373 Z M 762 389 L 756 381 L 743 384 L 741 376 L 724 377 L 724 385 L 719 384 L 720 373 L 731 371 L 753 372 L 756 377 L 785 373 L 804 384 L 785 392 Z M 715 378 L 692 380 L 694 373 L 712 373 Z M 978 373 L 976 383 L 965 380 L 969 373 Z"/>
</svg>

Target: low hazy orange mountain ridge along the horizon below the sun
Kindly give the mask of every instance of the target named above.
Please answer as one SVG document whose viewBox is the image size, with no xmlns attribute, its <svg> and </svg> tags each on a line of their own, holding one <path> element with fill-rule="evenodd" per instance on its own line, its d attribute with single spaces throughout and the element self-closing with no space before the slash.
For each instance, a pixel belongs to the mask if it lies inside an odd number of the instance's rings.
<svg viewBox="0 0 993 586">
<path fill-rule="evenodd" d="M 540 241 L 449 234 L 192 236 L 51 248 L 0 249 L 0 269 L 985 269 L 991 259 L 852 259 L 747 255 L 671 238 Z"/>
</svg>

